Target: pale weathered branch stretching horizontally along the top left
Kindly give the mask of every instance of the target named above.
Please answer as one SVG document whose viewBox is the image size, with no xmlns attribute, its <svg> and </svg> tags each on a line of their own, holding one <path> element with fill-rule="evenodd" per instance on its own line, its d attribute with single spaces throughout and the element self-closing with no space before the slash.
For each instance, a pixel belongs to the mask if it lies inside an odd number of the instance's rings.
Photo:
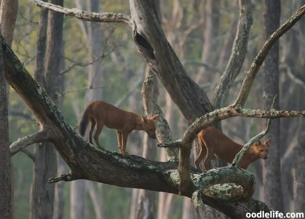
<svg viewBox="0 0 305 219">
<path fill-rule="evenodd" d="M 115 12 L 103 12 L 103 13 L 96 13 L 96 12 L 87 12 L 81 9 L 68 9 L 64 8 L 59 5 L 54 5 L 48 2 L 44 2 L 41 0 L 32 0 L 36 3 L 39 7 L 51 9 L 53 11 L 63 13 L 66 16 L 73 16 L 78 19 L 82 19 L 85 21 L 96 21 L 96 22 L 103 22 L 103 23 L 125 23 L 131 26 L 131 16 L 124 15 L 122 13 L 115 13 Z"/>
</svg>

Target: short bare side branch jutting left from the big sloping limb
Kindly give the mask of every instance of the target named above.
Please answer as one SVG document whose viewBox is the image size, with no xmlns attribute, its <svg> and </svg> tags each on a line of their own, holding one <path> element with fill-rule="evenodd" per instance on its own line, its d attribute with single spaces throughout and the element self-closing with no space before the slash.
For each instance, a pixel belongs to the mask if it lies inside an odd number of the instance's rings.
<svg viewBox="0 0 305 219">
<path fill-rule="evenodd" d="M 9 155 L 13 156 L 19 151 L 21 151 L 23 148 L 26 148 L 31 144 L 47 141 L 48 139 L 48 131 L 45 129 L 42 129 L 34 134 L 27 135 L 23 138 L 18 139 L 13 144 L 11 144 L 11 146 L 9 146 Z"/>
</svg>

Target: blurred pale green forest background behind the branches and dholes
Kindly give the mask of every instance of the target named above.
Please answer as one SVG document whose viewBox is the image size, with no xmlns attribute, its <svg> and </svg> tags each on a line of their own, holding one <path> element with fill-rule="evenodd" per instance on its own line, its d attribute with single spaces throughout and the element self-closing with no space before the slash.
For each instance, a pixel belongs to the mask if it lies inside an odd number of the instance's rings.
<svg viewBox="0 0 305 219">
<path fill-rule="evenodd" d="M 304 0 L 281 1 L 281 22 L 284 23 Z M 248 53 L 241 74 L 224 105 L 235 100 L 245 72 L 264 44 L 264 1 L 253 0 L 253 25 L 249 35 Z M 123 12 L 130 14 L 128 1 L 123 0 L 64 0 L 64 7 L 81 8 L 95 12 Z M 29 0 L 19 0 L 19 11 L 14 30 L 12 49 L 25 68 L 34 75 L 37 56 L 38 22 L 41 9 Z M 217 80 L 222 75 L 231 54 L 239 19 L 237 0 L 162 0 L 160 16 L 163 30 L 188 74 L 205 90 L 211 99 Z M 279 40 L 280 42 L 280 109 L 304 110 L 302 93 L 305 89 L 305 18 L 302 18 Z M 60 54 L 58 54 L 60 56 Z M 96 99 L 112 103 L 122 109 L 144 115 L 142 82 L 148 68 L 138 53 L 131 29 L 121 24 L 91 23 L 64 17 L 63 47 L 60 76 L 65 80 L 60 92 L 59 109 L 66 120 L 77 127 L 87 104 Z M 146 73 L 145 73 L 146 72 Z M 263 73 L 257 74 L 251 89 L 247 108 L 262 109 Z M 174 140 L 182 137 L 187 123 L 177 106 L 159 83 L 158 103 L 166 115 Z M 301 144 L 298 136 L 304 131 L 300 118 L 281 119 L 281 173 L 285 211 L 296 210 L 298 200 L 305 200 L 304 191 L 296 191 L 298 181 L 295 148 Z M 257 118 L 234 117 L 221 122 L 224 134 L 245 144 L 264 127 Z M 19 137 L 36 132 L 38 124 L 20 96 L 10 89 L 9 137 L 14 142 Z M 133 132 L 127 141 L 127 151 L 142 156 L 145 135 Z M 87 137 L 87 136 L 86 136 Z M 100 142 L 106 150 L 118 151 L 115 130 L 104 128 Z M 27 151 L 34 151 L 31 145 Z M 277 145 L 272 145 L 277 147 Z M 30 190 L 33 180 L 33 161 L 27 151 L 12 157 L 15 218 L 28 218 Z M 57 153 L 57 152 L 56 152 Z M 302 155 L 304 156 L 304 154 Z M 165 161 L 163 149 L 156 148 L 154 160 Z M 192 158 L 192 165 L 194 158 Z M 55 164 L 54 164 L 55 165 Z M 58 176 L 68 171 L 68 166 L 58 157 Z M 264 201 L 262 194 L 262 161 L 251 164 L 257 181 L 254 198 Z M 56 183 L 54 218 L 79 218 L 75 212 L 83 211 L 88 219 L 136 218 L 139 189 L 122 188 L 91 181 Z M 158 219 L 194 218 L 191 201 L 187 197 L 167 193 L 155 195 Z M 77 210 L 76 210 L 77 209 Z M 304 209 L 303 209 L 304 210 Z M 72 212 L 72 213 L 71 213 Z M 73 213 L 74 212 L 74 213 Z"/>
</svg>

